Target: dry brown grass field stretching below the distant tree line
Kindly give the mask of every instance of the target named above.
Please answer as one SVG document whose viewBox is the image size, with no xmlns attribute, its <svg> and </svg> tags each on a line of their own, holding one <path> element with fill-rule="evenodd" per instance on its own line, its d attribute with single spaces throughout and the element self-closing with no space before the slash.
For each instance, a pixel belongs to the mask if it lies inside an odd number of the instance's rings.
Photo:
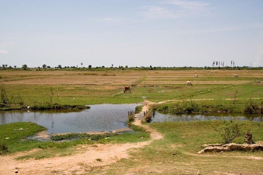
<svg viewBox="0 0 263 175">
<path fill-rule="evenodd" d="M 95 74 L 95 75 L 92 75 Z M 195 78 L 195 74 L 199 77 Z M 211 74 L 211 75 L 210 75 Z M 239 75 L 234 79 L 234 75 Z M 239 85 L 263 78 L 260 70 L 162 70 L 162 71 L 7 71 L 0 84 L 12 85 Z M 102 76 L 109 75 L 109 76 Z M 116 75 L 116 76 L 110 76 Z M 230 79 L 229 79 L 230 78 Z M 233 79 L 232 79 L 233 78 Z M 244 79 L 245 78 L 245 79 Z M 226 79 L 226 80 L 224 80 Z M 227 80 L 229 79 L 229 80 Z"/>
</svg>

